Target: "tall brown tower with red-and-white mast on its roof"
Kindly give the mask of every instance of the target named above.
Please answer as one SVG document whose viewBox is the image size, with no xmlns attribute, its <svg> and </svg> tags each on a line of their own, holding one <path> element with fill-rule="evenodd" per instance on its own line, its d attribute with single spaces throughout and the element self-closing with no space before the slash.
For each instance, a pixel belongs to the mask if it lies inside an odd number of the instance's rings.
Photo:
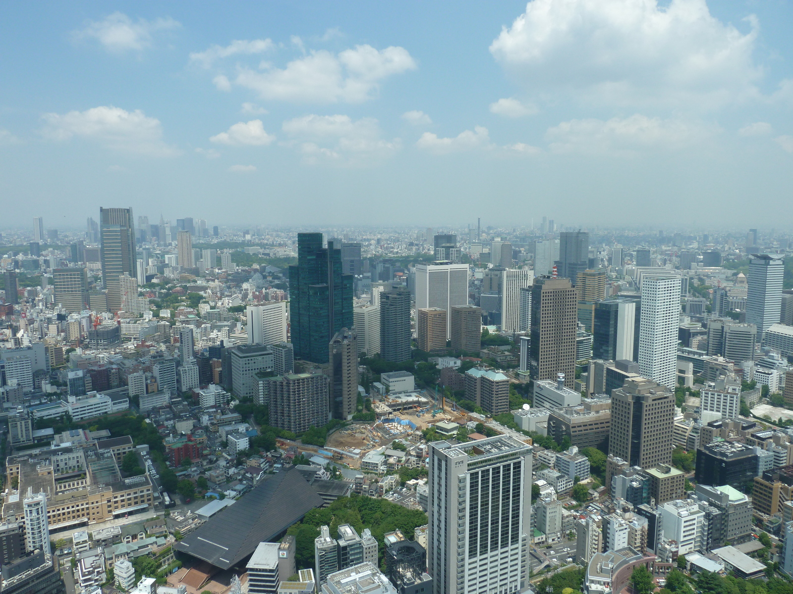
<svg viewBox="0 0 793 594">
<path fill-rule="evenodd" d="M 576 378 L 578 294 L 569 279 L 542 276 L 531 287 L 531 343 L 529 363 L 533 379 L 556 379 L 565 386 Z"/>
</svg>

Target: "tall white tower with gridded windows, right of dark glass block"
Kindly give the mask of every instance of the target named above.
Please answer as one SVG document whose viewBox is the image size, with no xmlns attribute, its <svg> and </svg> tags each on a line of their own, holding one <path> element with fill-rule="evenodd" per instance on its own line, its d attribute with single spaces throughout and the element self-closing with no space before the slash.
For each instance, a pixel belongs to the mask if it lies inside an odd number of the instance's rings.
<svg viewBox="0 0 793 594">
<path fill-rule="evenodd" d="M 639 370 L 647 379 L 673 387 L 677 383 L 677 334 L 680 327 L 680 278 L 642 280 Z"/>
</svg>

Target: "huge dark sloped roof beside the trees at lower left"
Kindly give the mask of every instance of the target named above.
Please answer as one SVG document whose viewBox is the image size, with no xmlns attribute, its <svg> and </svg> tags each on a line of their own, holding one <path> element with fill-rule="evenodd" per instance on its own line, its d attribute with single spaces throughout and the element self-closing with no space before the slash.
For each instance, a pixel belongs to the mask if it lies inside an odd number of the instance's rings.
<svg viewBox="0 0 793 594">
<path fill-rule="evenodd" d="M 186 535 L 176 550 L 228 569 L 323 503 L 300 472 L 287 468 Z"/>
</svg>

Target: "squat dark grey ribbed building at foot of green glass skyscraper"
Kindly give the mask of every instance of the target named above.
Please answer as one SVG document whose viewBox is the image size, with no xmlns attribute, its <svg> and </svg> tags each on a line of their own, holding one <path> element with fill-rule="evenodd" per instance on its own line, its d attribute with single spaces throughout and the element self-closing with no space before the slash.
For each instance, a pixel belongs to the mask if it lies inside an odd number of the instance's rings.
<svg viewBox="0 0 793 594">
<path fill-rule="evenodd" d="M 328 382 L 322 373 L 273 373 L 259 379 L 259 402 L 270 411 L 270 425 L 293 433 L 325 425 L 330 417 Z"/>
</svg>

